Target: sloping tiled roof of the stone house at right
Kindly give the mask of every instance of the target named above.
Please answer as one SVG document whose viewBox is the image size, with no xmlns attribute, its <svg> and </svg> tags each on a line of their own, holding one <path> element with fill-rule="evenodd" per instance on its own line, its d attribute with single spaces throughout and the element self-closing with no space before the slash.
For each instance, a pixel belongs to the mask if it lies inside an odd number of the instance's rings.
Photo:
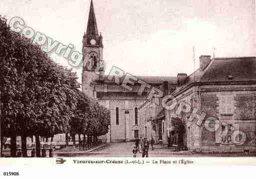
<svg viewBox="0 0 256 179">
<path fill-rule="evenodd" d="M 229 76 L 231 79 L 229 79 Z M 256 80 L 256 57 L 215 58 L 205 71 L 196 70 L 174 93 L 196 82 L 232 82 Z"/>
</svg>

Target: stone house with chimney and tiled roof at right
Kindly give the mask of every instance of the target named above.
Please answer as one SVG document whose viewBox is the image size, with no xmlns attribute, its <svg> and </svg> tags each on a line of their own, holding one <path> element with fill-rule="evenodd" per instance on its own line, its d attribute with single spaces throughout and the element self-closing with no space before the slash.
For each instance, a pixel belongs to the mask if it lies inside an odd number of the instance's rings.
<svg viewBox="0 0 256 179">
<path fill-rule="evenodd" d="M 167 143 L 169 138 L 188 150 L 256 150 L 255 57 L 201 56 L 200 69 L 185 75 L 172 96 L 168 105 L 175 107 L 157 106 L 160 112 L 147 123 L 158 126 L 155 140 Z M 175 130 L 177 121 L 182 130 Z"/>
</svg>

